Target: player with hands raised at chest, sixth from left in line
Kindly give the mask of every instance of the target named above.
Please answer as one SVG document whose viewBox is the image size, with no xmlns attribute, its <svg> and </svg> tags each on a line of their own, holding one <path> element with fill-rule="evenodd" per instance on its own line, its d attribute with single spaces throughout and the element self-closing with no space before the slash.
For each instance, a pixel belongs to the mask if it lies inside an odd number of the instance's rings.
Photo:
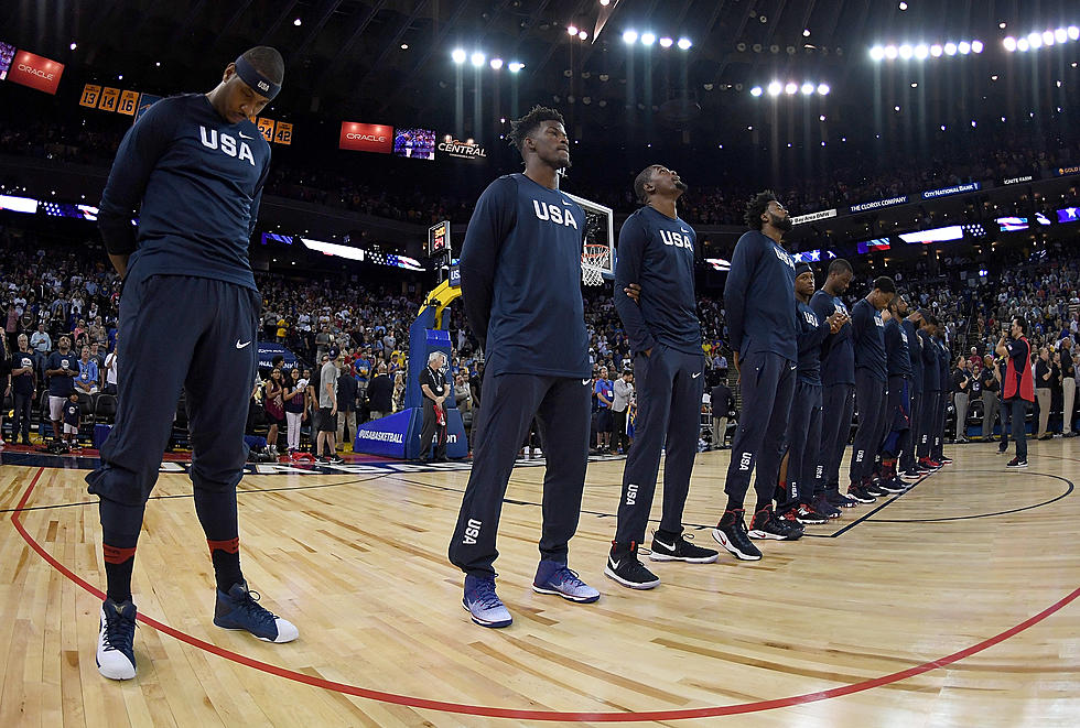
<svg viewBox="0 0 1080 728">
<path fill-rule="evenodd" d="M 819 319 L 833 312 L 849 316 L 840 297 L 851 285 L 851 263 L 843 258 L 829 263 L 824 285 L 810 298 L 810 307 Z M 851 343 L 851 320 L 821 345 L 821 453 L 825 500 L 835 508 L 854 508 L 853 498 L 840 492 L 840 461 L 851 437 L 851 419 L 855 414 L 855 350 Z"/>
</svg>

